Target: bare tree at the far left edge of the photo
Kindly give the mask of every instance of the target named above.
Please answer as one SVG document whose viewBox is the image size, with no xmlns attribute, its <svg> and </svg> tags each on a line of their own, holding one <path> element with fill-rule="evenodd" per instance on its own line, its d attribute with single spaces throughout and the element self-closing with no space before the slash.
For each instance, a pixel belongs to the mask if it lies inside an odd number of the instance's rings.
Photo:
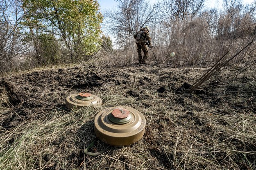
<svg viewBox="0 0 256 170">
<path fill-rule="evenodd" d="M 23 53 L 19 23 L 23 13 L 18 0 L 0 1 L 0 72 L 16 67 L 17 58 Z"/>
</svg>

